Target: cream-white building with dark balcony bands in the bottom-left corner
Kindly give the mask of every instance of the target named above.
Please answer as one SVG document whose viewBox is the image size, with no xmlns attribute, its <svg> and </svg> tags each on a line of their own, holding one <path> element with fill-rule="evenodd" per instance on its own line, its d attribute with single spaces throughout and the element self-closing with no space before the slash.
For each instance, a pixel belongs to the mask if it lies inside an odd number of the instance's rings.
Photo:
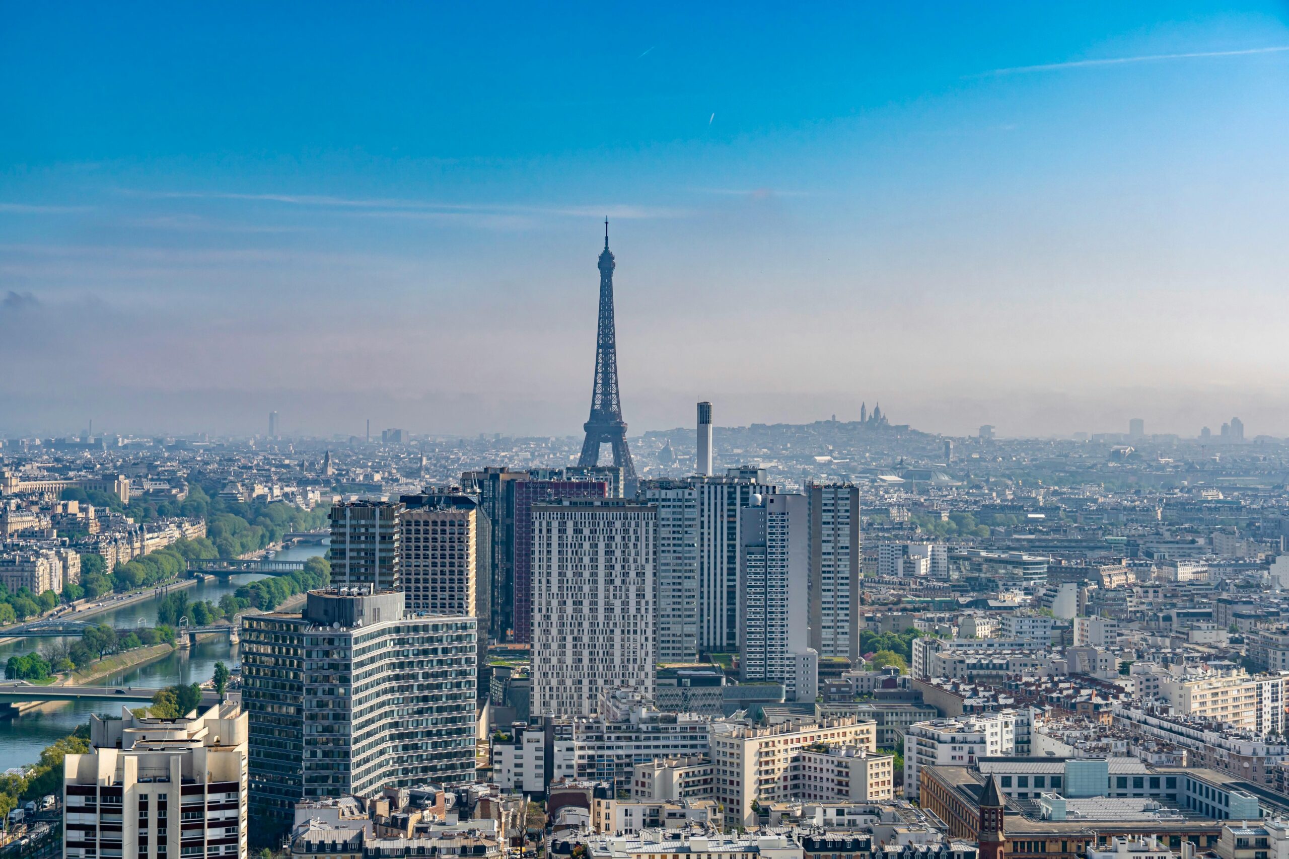
<svg viewBox="0 0 1289 859">
<path fill-rule="evenodd" d="M 89 752 L 63 759 L 62 855 L 246 859 L 246 743 L 231 702 L 179 719 L 92 715 Z"/>
</svg>

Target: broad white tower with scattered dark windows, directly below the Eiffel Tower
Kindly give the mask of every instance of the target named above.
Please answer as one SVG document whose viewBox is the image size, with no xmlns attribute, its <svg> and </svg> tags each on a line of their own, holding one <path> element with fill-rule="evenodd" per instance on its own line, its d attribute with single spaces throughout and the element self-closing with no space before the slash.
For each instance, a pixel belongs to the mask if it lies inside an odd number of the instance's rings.
<svg viewBox="0 0 1289 859">
<path fill-rule="evenodd" d="M 617 498 L 532 505 L 534 715 L 590 715 L 607 689 L 654 694 L 657 519 Z"/>
</svg>

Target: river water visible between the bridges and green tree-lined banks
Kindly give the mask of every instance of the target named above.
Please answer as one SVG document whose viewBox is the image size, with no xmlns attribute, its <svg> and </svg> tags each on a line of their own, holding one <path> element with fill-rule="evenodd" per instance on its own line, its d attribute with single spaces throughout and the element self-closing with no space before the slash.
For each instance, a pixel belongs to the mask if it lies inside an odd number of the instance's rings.
<svg viewBox="0 0 1289 859">
<path fill-rule="evenodd" d="M 277 552 L 276 560 L 305 560 L 321 555 L 324 551 L 326 551 L 326 546 L 316 543 L 291 546 Z M 263 578 L 263 576 L 249 573 L 227 580 L 206 580 L 195 587 L 186 589 L 183 594 L 187 594 L 189 601 L 219 603 L 219 598 L 224 594 L 232 594 L 240 586 L 257 578 Z M 141 600 L 95 614 L 90 619 L 121 628 L 134 626 L 142 618 L 148 626 L 152 626 L 156 623 L 160 601 L 160 596 Z M 49 639 L 21 639 L 0 645 L 0 666 L 8 662 L 12 656 L 40 650 L 48 641 Z M 204 683 L 214 675 L 215 662 L 224 662 L 228 667 L 237 662 L 237 645 L 229 644 L 228 639 L 222 635 L 200 641 L 193 648 L 177 648 L 164 659 L 125 668 L 94 683 L 157 689 L 177 683 Z M 138 707 L 139 704 L 138 702 L 122 704 L 115 701 L 59 701 L 41 704 L 12 719 L 0 717 L 0 773 L 12 766 L 36 762 L 46 746 L 72 733 L 77 725 L 86 724 L 90 713 L 119 715 L 124 706 Z"/>
</svg>

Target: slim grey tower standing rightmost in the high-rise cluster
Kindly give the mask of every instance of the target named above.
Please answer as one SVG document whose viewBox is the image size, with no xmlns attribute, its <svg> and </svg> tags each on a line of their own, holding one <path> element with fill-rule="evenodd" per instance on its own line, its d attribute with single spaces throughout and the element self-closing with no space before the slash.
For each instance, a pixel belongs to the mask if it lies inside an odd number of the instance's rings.
<svg viewBox="0 0 1289 859">
<path fill-rule="evenodd" d="M 860 491 L 849 483 L 806 488 L 809 500 L 809 645 L 860 656 Z"/>
</svg>

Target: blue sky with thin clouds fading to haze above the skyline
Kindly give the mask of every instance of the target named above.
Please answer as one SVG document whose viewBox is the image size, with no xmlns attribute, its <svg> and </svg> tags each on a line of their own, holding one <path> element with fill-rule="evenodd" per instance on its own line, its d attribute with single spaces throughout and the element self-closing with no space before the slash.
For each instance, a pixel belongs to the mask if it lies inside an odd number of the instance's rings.
<svg viewBox="0 0 1289 859">
<path fill-rule="evenodd" d="M 1286 18 L 14 5 L 0 431 L 1289 435 Z"/>
</svg>

